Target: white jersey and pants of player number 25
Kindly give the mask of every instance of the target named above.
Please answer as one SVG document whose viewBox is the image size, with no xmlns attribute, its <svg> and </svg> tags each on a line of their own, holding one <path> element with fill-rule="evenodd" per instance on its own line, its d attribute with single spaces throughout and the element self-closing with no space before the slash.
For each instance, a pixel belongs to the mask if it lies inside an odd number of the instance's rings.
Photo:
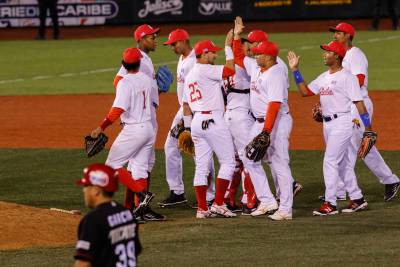
<svg viewBox="0 0 400 267">
<path fill-rule="evenodd" d="M 208 166 L 213 152 L 220 163 L 218 178 L 230 181 L 235 169 L 233 141 L 224 120 L 223 69 L 221 65 L 196 63 L 185 80 L 183 102 L 188 103 L 194 113 L 191 124 L 196 153 L 194 186 L 208 184 Z M 208 128 L 203 129 L 207 120 Z"/>
</svg>

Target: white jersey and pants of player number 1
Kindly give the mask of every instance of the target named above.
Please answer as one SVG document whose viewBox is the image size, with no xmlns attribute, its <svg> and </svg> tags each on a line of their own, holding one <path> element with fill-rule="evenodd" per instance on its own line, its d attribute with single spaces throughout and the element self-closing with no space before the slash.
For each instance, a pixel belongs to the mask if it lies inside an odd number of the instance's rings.
<svg viewBox="0 0 400 267">
<path fill-rule="evenodd" d="M 111 146 L 106 165 L 122 168 L 128 160 L 134 178 L 147 177 L 155 132 L 151 123 L 151 79 L 141 73 L 119 81 L 113 107 L 121 108 L 123 128 Z"/>
</svg>

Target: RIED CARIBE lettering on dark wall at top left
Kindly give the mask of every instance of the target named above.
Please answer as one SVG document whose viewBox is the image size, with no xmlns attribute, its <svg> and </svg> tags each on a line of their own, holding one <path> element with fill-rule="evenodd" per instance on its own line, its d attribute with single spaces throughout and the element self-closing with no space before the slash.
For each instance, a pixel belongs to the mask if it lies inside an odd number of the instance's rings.
<svg viewBox="0 0 400 267">
<path fill-rule="evenodd" d="M 59 3 L 58 16 L 63 17 L 104 17 L 113 18 L 118 14 L 118 5 L 114 1 L 95 3 Z M 0 4 L 0 19 L 37 18 L 37 4 L 13 5 Z"/>
</svg>

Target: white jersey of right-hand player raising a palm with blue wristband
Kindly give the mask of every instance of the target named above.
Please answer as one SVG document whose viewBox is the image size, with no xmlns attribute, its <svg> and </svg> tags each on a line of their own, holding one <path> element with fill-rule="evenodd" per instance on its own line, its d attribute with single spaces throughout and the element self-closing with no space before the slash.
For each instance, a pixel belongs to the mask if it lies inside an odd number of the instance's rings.
<svg viewBox="0 0 400 267">
<path fill-rule="evenodd" d="M 322 73 L 308 87 L 320 95 L 322 113 L 325 116 L 350 112 L 353 101 L 361 101 L 360 86 L 356 76 L 342 69 L 333 74 Z"/>
</svg>

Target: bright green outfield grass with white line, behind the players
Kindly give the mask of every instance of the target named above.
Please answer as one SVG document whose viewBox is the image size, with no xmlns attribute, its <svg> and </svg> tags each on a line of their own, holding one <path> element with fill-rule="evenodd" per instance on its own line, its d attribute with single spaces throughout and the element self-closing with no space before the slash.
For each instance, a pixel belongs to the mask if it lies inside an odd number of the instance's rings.
<svg viewBox="0 0 400 267">
<path fill-rule="evenodd" d="M 391 36 L 393 39 L 385 39 Z M 205 38 L 223 45 L 225 37 L 193 36 L 192 43 Z M 293 49 L 302 56 L 301 69 L 308 81 L 325 70 L 319 44 L 331 38 L 328 32 L 270 35 L 270 39 L 276 41 L 282 49 L 281 57 L 284 60 L 287 53 L 285 49 Z M 375 38 L 379 39 L 376 42 L 366 42 Z M 170 62 L 169 67 L 175 72 L 177 56 L 170 47 L 162 45 L 165 39 L 166 36 L 160 36 L 157 51 L 151 57 L 155 64 Z M 393 79 L 393 75 L 400 72 L 397 62 L 400 51 L 394 49 L 400 47 L 400 33 L 357 32 L 355 45 L 363 49 L 369 59 L 370 89 L 400 88 L 400 81 Z M 129 46 L 134 46 L 131 37 L 45 42 L 2 41 L 0 95 L 112 93 L 112 81 L 120 67 L 122 51 Z M 310 48 L 303 49 L 303 46 Z M 221 63 L 223 59 L 221 53 L 218 62 Z M 98 70 L 101 72 L 87 73 Z M 63 77 L 63 74 L 73 76 Z M 45 77 L 37 79 L 38 76 Z M 7 82 L 15 79 L 23 80 Z M 291 89 L 295 89 L 293 84 Z M 175 90 L 175 85 L 172 90 Z"/>
</svg>

